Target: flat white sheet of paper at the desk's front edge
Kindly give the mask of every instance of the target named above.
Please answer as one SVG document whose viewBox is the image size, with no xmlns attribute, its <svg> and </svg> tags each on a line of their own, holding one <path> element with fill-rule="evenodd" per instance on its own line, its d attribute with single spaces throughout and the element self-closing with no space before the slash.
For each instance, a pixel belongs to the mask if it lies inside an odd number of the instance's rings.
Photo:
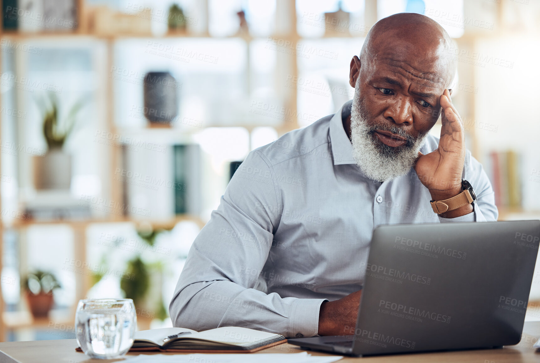
<svg viewBox="0 0 540 363">
<path fill-rule="evenodd" d="M 125 363 L 332 363 L 343 358 L 336 355 L 314 356 L 302 353 L 245 353 L 245 354 L 139 354 L 127 358 Z"/>
</svg>

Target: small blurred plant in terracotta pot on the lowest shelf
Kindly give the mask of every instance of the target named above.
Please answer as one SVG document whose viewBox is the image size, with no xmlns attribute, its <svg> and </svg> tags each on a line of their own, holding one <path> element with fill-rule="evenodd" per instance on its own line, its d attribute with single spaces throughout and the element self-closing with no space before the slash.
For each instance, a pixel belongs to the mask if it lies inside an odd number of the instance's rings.
<svg viewBox="0 0 540 363">
<path fill-rule="evenodd" d="M 60 283 L 51 272 L 36 271 L 29 273 L 24 280 L 26 300 L 35 318 L 46 318 L 54 303 L 52 292 Z"/>
</svg>

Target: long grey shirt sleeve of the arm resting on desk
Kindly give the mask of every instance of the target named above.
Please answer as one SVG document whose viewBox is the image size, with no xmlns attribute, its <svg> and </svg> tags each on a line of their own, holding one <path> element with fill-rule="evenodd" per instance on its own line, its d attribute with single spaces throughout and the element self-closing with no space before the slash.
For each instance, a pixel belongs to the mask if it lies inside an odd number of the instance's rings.
<svg viewBox="0 0 540 363">
<path fill-rule="evenodd" d="M 254 150 L 195 238 L 169 306 L 174 326 L 242 326 L 286 337 L 318 333 L 326 299 L 282 298 L 266 293 L 259 279 L 281 211 L 273 168 Z"/>
</svg>

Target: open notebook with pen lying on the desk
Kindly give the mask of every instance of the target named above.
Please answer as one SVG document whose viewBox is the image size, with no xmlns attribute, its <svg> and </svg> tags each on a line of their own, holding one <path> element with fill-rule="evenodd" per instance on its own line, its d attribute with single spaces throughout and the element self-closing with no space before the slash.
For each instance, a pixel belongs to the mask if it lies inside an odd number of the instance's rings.
<svg viewBox="0 0 540 363">
<path fill-rule="evenodd" d="M 186 328 L 141 330 L 135 333 L 134 338 L 130 351 L 183 353 L 251 353 L 287 341 L 280 334 L 237 326 L 223 326 L 203 332 Z"/>
</svg>

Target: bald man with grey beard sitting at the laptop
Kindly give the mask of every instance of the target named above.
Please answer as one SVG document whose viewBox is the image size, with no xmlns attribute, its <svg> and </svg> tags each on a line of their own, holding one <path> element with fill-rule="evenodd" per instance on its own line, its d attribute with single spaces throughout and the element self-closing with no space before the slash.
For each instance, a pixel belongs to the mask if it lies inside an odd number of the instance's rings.
<svg viewBox="0 0 540 363">
<path fill-rule="evenodd" d="M 451 102 L 449 47 L 423 15 L 373 26 L 350 63 L 354 99 L 253 150 L 234 174 L 178 280 L 175 326 L 349 334 L 376 225 L 497 220 Z M 469 184 L 476 200 L 455 203 Z"/>
</svg>

